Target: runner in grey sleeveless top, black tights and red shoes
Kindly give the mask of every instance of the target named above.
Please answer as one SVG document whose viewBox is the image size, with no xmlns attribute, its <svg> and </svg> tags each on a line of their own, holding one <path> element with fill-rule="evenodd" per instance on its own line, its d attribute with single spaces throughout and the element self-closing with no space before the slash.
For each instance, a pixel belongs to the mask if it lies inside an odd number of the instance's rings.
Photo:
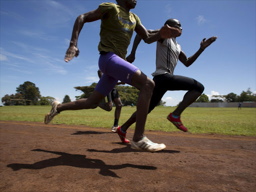
<svg viewBox="0 0 256 192">
<path fill-rule="evenodd" d="M 168 19 L 164 24 L 176 27 L 182 31 L 181 24 L 177 19 Z M 153 34 L 158 30 L 148 30 Z M 178 107 L 171 112 L 167 119 L 172 122 L 178 129 L 187 131 L 187 128 L 180 121 L 180 114 L 183 110 L 196 100 L 204 90 L 203 85 L 193 78 L 181 75 L 174 75 L 173 71 L 180 60 L 185 66 L 191 65 L 195 59 L 202 53 L 202 51 L 216 40 L 216 36 L 212 36 L 207 40 L 202 39 L 200 48 L 190 57 L 186 57 L 181 50 L 180 45 L 176 42 L 176 37 L 162 38 L 157 41 L 156 45 L 156 70 L 152 73 L 155 87 L 153 89 L 152 97 L 149 104 L 148 113 L 157 105 L 162 96 L 167 90 L 187 90 L 183 100 Z M 141 37 L 136 35 L 130 55 L 126 57 L 128 62 L 133 62 L 135 59 L 135 51 L 141 40 Z M 136 111 L 131 117 L 121 126 L 123 131 L 136 121 Z"/>
</svg>

